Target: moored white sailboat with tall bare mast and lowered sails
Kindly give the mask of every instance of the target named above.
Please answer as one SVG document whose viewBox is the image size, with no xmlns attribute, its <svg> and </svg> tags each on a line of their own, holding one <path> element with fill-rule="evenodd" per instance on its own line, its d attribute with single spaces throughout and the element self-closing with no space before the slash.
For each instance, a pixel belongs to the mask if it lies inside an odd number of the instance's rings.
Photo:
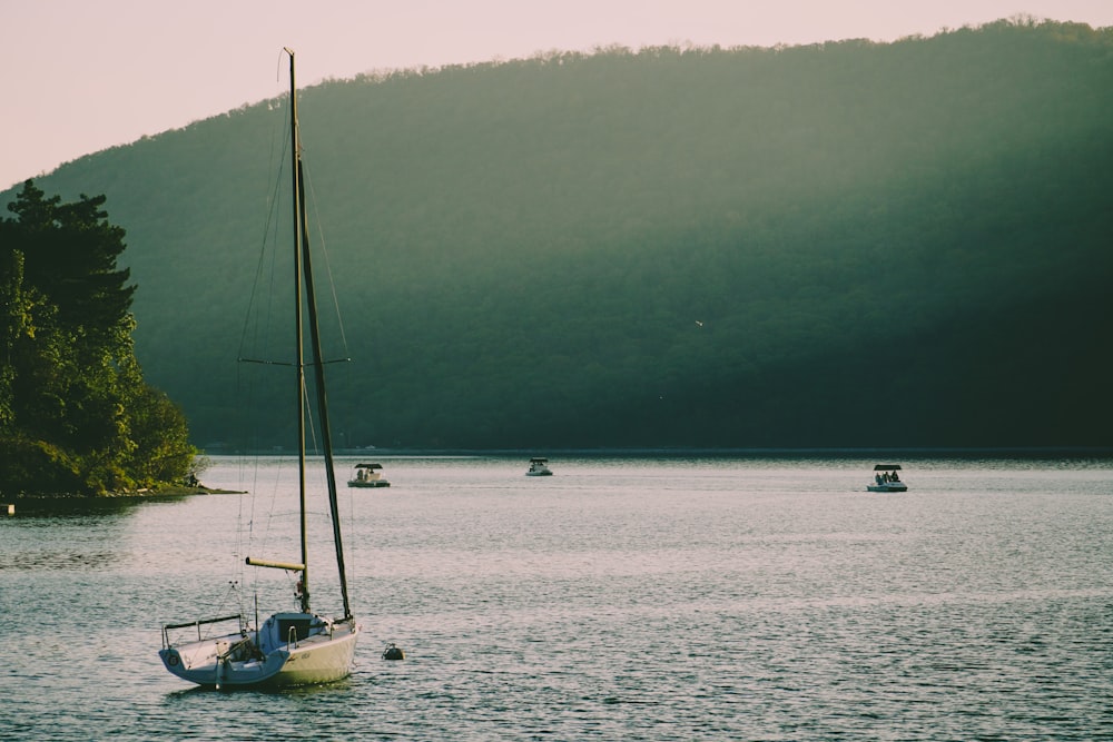
<svg viewBox="0 0 1113 742">
<path fill-rule="evenodd" d="M 262 625 L 256 616 L 253 625 L 242 613 L 218 619 L 205 619 L 162 626 L 162 649 L 159 656 L 171 673 L 206 687 L 276 687 L 329 683 L 352 673 L 359 625 L 352 615 L 348 603 L 347 578 L 344 568 L 344 547 L 341 541 L 339 512 L 336 499 L 336 475 L 333 466 L 332 434 L 328 426 L 328 405 L 325 395 L 324 367 L 321 338 L 317 330 L 316 299 L 313 290 L 313 269 L 309 259 L 308 229 L 305 218 L 305 189 L 297 128 L 297 87 L 294 77 L 294 52 L 289 56 L 290 97 L 290 158 L 294 201 L 294 306 L 297 384 L 298 431 L 298 494 L 301 503 L 302 556 L 299 562 L 275 562 L 247 557 L 247 564 L 273 567 L 297 574 L 299 606 L 296 611 L 277 612 Z M 302 289 L 305 289 L 305 308 L 308 313 L 309 346 L 319 416 L 325 472 L 328 485 L 328 505 L 333 522 L 333 542 L 336 566 L 339 572 L 341 597 L 344 616 L 332 619 L 314 613 L 309 606 L 309 565 L 306 544 L 306 483 L 305 483 L 305 363 L 303 350 Z M 257 614 L 257 611 L 256 611 Z M 232 623 L 236 622 L 236 629 Z M 224 629 L 217 629 L 218 626 Z M 171 631 L 189 631 L 185 641 L 171 641 Z M 221 632 L 223 633 L 219 633 Z M 213 632 L 217 635 L 208 635 Z"/>
</svg>

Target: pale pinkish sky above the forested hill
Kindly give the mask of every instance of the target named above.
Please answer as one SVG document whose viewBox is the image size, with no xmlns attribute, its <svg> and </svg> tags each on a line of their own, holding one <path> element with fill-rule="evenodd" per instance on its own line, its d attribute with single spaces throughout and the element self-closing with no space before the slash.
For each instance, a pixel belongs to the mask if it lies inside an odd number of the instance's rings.
<svg viewBox="0 0 1113 742">
<path fill-rule="evenodd" d="M 892 41 L 1113 0 L 0 0 L 0 189 L 145 135 L 372 70 L 553 49 Z"/>
</svg>

